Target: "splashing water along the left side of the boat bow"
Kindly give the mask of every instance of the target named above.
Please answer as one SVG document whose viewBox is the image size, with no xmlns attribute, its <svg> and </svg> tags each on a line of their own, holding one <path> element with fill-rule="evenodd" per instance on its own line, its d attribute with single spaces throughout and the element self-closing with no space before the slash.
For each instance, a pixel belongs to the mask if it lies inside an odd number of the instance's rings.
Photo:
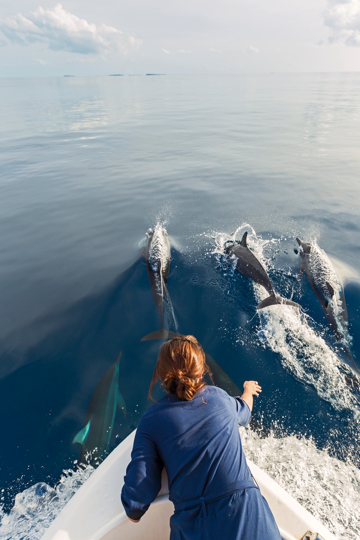
<svg viewBox="0 0 360 540">
<path fill-rule="evenodd" d="M 0 540 L 39 540 L 93 470 L 91 465 L 67 469 L 55 488 L 38 482 L 18 493 L 9 514 L 0 507 Z"/>
</svg>

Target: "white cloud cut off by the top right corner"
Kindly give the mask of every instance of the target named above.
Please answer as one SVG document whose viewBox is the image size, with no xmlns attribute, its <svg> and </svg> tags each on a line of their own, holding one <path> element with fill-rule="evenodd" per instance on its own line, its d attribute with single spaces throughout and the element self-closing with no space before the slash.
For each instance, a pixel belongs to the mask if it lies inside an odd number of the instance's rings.
<svg viewBox="0 0 360 540">
<path fill-rule="evenodd" d="M 360 0 L 328 0 L 323 16 L 330 43 L 360 46 Z"/>
</svg>

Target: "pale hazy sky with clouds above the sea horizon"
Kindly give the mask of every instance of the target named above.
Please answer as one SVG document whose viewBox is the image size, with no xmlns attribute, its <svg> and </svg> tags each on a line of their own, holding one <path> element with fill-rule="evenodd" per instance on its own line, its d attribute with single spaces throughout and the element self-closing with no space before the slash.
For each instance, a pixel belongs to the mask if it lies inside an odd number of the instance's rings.
<svg viewBox="0 0 360 540">
<path fill-rule="evenodd" d="M 11 0 L 0 77 L 360 71 L 360 0 Z"/>
</svg>

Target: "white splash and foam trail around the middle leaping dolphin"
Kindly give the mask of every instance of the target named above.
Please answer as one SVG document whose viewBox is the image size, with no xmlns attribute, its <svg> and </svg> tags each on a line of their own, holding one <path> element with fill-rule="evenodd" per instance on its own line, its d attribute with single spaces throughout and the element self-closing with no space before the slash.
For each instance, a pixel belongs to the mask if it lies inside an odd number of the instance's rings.
<svg viewBox="0 0 360 540">
<path fill-rule="evenodd" d="M 236 259 L 225 261 L 223 246 L 227 241 L 239 240 L 248 231 L 247 243 L 270 272 L 273 268 L 271 256 L 266 258 L 264 249 L 277 246 L 279 240 L 263 240 L 256 235 L 249 224 L 241 225 L 233 235 L 213 233 L 214 253 L 221 267 L 232 272 Z M 283 273 L 289 277 L 289 269 Z M 270 276 L 271 277 L 271 276 Z M 290 276 L 293 279 L 293 276 Z M 284 284 L 291 298 L 291 279 Z M 256 302 L 261 302 L 268 293 L 253 282 Z M 350 367 L 339 359 L 323 337 L 309 325 L 311 318 L 297 308 L 275 305 L 257 311 L 259 326 L 257 337 L 263 347 L 268 347 L 280 357 L 283 367 L 298 381 L 315 388 L 319 397 L 331 403 L 336 410 L 351 409 L 355 417 L 360 416 L 360 396 L 349 387 L 348 380 L 353 373 Z"/>
</svg>

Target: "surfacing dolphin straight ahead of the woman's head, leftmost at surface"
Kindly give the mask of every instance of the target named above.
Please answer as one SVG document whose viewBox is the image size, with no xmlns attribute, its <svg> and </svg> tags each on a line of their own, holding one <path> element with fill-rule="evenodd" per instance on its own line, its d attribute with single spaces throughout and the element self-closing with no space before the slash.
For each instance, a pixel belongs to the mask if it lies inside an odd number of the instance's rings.
<svg viewBox="0 0 360 540">
<path fill-rule="evenodd" d="M 163 328 L 165 301 L 171 306 L 167 292 L 167 278 L 169 275 L 171 254 L 170 242 L 167 232 L 159 223 L 146 234 L 147 242 L 144 248 L 147 274 L 150 281 L 151 292 L 157 311 L 160 316 L 160 329 L 141 338 L 141 341 L 153 339 L 171 339 L 178 335 Z"/>
</svg>

